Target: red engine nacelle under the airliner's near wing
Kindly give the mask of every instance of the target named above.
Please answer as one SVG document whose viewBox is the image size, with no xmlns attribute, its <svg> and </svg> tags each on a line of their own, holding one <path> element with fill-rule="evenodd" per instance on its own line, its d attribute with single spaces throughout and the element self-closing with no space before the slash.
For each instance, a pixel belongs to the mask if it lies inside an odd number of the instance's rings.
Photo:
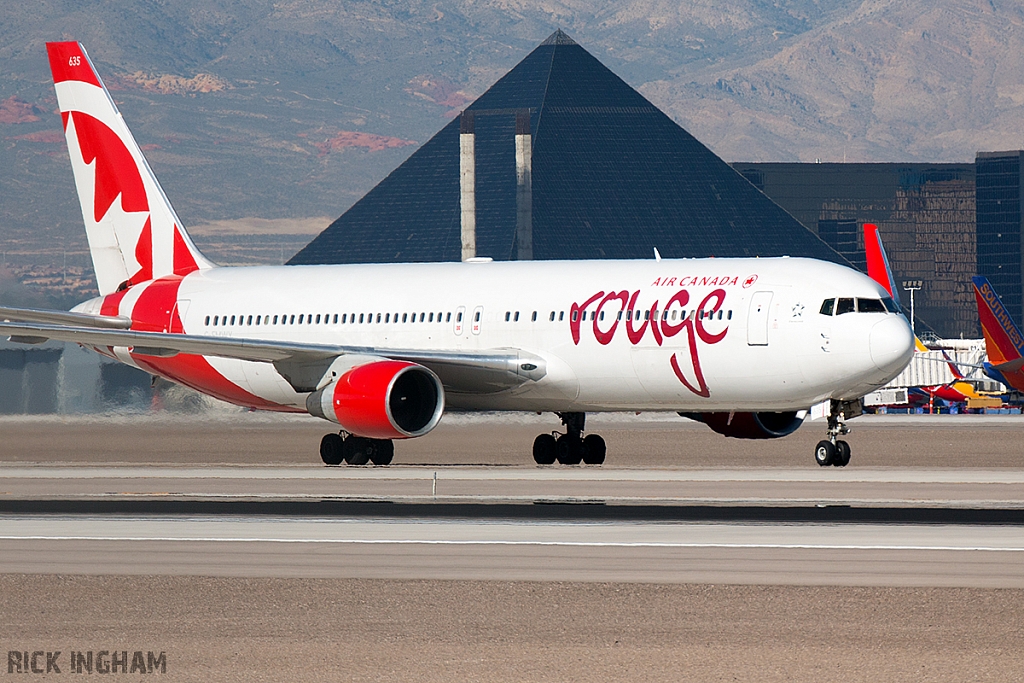
<svg viewBox="0 0 1024 683">
<path fill-rule="evenodd" d="M 348 369 L 309 394 L 306 409 L 357 436 L 409 438 L 437 426 L 444 390 L 423 366 L 381 359 Z"/>
</svg>

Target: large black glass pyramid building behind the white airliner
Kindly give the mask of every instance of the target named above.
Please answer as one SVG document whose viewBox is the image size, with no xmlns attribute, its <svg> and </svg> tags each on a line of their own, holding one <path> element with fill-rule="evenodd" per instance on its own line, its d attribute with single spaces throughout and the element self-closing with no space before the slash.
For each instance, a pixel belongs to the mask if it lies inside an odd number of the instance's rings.
<svg viewBox="0 0 1024 683">
<path fill-rule="evenodd" d="M 466 205 L 469 255 L 495 260 L 651 258 L 656 248 L 845 262 L 558 31 L 289 263 L 458 261 Z"/>
</svg>

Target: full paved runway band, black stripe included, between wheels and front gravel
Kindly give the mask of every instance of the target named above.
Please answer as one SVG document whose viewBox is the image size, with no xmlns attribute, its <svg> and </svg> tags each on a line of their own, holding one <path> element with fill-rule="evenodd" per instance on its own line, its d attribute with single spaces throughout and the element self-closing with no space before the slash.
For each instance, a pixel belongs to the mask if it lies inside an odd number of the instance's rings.
<svg viewBox="0 0 1024 683">
<path fill-rule="evenodd" d="M 0 466 L 0 572 L 1024 587 L 1024 473 Z"/>
</svg>

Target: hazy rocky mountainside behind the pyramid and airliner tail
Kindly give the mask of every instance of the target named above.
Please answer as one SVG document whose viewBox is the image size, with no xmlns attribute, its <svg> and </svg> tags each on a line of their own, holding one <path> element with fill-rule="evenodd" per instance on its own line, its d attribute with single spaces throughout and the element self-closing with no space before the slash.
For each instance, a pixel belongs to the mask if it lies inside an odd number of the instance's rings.
<svg viewBox="0 0 1024 683">
<path fill-rule="evenodd" d="M 556 28 L 728 161 L 965 161 L 1024 143 L 1018 1 L 596 7 L 5 3 L 0 266 L 88 271 L 47 40 L 85 43 L 189 225 L 340 214 Z"/>
</svg>

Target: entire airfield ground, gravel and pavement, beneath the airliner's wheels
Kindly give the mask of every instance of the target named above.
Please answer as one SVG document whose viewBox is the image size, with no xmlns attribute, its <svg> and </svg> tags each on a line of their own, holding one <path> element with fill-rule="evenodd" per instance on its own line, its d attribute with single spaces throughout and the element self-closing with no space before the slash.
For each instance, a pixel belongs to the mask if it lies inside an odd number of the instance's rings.
<svg viewBox="0 0 1024 683">
<path fill-rule="evenodd" d="M 259 414 L 0 419 L 0 642 L 160 650 L 169 680 L 1024 680 L 1020 416 L 726 439 L 446 416 L 395 465 Z M 0 680 L 4 672 L 0 670 Z"/>
</svg>

